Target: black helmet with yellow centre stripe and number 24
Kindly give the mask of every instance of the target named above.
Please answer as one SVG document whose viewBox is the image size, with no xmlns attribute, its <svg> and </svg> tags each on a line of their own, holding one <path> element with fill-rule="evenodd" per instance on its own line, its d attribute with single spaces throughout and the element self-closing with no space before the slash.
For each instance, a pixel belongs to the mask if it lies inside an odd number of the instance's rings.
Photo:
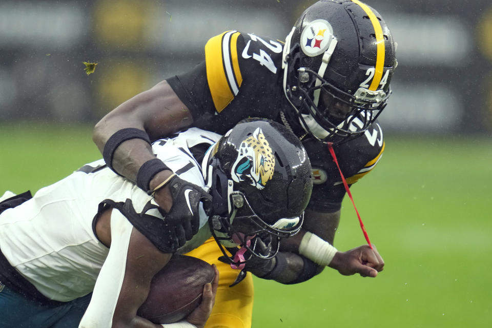
<svg viewBox="0 0 492 328">
<path fill-rule="evenodd" d="M 285 114 L 324 142 L 363 133 L 386 106 L 395 44 L 381 15 L 358 0 L 321 0 L 285 40 Z"/>
</svg>

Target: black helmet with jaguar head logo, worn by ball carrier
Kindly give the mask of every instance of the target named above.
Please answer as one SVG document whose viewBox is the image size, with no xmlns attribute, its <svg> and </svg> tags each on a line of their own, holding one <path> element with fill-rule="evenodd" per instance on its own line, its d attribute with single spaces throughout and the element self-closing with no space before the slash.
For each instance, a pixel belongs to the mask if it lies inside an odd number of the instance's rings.
<svg viewBox="0 0 492 328">
<path fill-rule="evenodd" d="M 247 255 L 272 258 L 279 240 L 299 232 L 313 188 L 299 139 L 267 119 L 239 122 L 207 151 L 203 172 L 212 195 L 209 225 L 232 264 Z M 239 267 L 240 268 L 240 267 Z"/>
</svg>

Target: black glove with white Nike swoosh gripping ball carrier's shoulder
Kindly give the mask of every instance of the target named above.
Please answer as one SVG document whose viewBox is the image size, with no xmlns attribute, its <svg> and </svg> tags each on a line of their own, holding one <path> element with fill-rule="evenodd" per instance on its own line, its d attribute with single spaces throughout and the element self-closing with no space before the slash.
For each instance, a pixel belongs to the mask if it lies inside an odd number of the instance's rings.
<svg viewBox="0 0 492 328">
<path fill-rule="evenodd" d="M 203 209 L 207 212 L 212 205 L 212 196 L 204 192 L 201 187 L 175 176 L 169 182 L 169 189 L 173 204 L 169 213 L 165 215 L 167 222 L 176 229 L 176 236 L 180 247 L 190 240 L 200 228 L 198 206 L 203 202 Z"/>
</svg>

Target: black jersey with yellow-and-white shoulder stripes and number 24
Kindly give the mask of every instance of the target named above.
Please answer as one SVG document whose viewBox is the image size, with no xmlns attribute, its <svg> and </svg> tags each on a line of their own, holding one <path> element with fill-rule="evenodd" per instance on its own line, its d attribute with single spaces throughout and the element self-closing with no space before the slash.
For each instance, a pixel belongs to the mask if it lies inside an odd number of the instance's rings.
<svg viewBox="0 0 492 328">
<path fill-rule="evenodd" d="M 189 108 L 195 127 L 223 134 L 248 117 L 281 122 L 280 110 L 291 106 L 282 88 L 282 50 L 279 40 L 224 32 L 207 42 L 202 63 L 167 81 Z M 339 210 L 345 189 L 328 147 L 313 138 L 303 139 L 303 145 L 313 167 L 309 208 Z M 334 150 L 347 182 L 355 183 L 381 158 L 384 141 L 379 123 Z"/>
</svg>

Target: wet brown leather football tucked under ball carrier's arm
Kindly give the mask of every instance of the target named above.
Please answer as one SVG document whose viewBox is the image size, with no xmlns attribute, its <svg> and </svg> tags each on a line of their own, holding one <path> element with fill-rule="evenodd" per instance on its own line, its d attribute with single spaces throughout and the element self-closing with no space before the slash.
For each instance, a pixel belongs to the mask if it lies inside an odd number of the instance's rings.
<svg viewBox="0 0 492 328">
<path fill-rule="evenodd" d="M 137 315 L 153 323 L 186 318 L 201 302 L 203 286 L 212 282 L 212 265 L 196 257 L 174 255 L 152 278 L 149 296 Z"/>
</svg>

